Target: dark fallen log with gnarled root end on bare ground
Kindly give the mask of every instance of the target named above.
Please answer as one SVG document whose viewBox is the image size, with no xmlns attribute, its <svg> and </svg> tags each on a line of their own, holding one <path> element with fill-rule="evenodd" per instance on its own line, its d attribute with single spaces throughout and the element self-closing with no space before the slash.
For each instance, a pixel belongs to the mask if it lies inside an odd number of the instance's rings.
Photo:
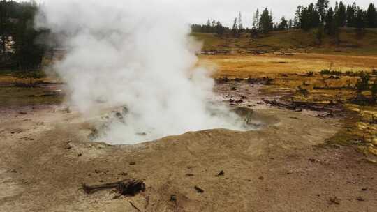
<svg viewBox="0 0 377 212">
<path fill-rule="evenodd" d="M 120 195 L 135 196 L 139 192 L 145 191 L 145 184 L 143 181 L 135 179 L 126 179 L 123 181 L 117 181 L 115 183 L 104 183 L 100 185 L 87 185 L 86 183 L 82 183 L 82 190 L 84 190 L 84 192 L 88 195 L 93 194 L 94 192 L 97 192 L 99 190 L 112 188 L 115 188 Z"/>
</svg>

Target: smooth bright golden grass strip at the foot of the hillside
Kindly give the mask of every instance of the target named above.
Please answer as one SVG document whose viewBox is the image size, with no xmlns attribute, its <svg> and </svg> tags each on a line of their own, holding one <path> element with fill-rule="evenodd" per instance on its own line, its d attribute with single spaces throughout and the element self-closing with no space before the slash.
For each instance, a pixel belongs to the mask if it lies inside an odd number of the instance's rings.
<svg viewBox="0 0 377 212">
<path fill-rule="evenodd" d="M 334 54 L 232 54 L 200 55 L 200 65 L 216 68 L 216 77 L 249 77 L 276 73 L 318 72 L 325 68 L 341 71 L 377 68 L 377 56 Z"/>
</svg>

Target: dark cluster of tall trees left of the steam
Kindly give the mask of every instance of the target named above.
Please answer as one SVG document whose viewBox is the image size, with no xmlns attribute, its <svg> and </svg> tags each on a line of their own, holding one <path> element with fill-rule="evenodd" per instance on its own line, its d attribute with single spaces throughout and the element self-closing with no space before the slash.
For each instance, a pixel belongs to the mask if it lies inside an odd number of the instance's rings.
<svg viewBox="0 0 377 212">
<path fill-rule="evenodd" d="M 35 1 L 0 0 L 0 68 L 39 68 L 45 47 L 37 38 L 47 31 L 34 29 L 37 10 Z"/>
</svg>

